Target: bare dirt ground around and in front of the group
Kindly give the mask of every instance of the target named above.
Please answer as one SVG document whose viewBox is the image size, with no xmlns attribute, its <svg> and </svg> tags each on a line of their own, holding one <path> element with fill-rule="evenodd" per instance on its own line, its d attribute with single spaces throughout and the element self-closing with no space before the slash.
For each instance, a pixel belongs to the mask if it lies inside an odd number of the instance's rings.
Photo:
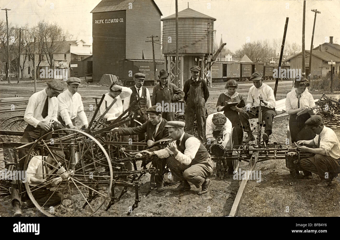
<svg viewBox="0 0 340 240">
<path fill-rule="evenodd" d="M 17 87 L 23 89 L 23 85 L 11 84 L 9 89 Z M 29 83 L 25 89 L 31 88 Z M 224 85 L 219 83 L 218 85 Z M 5 87 L 6 86 L 6 87 Z M 214 85 L 216 87 L 217 84 Z M 1 91 L 7 89 L 8 85 L 0 85 Z M 27 87 L 27 88 L 26 88 Z M 45 87 L 44 83 L 38 85 Z M 149 87 L 150 89 L 150 87 Z M 18 90 L 20 91 L 20 90 Z M 80 89 L 80 94 L 98 95 L 106 93 L 106 88 Z M 222 92 L 222 91 L 221 91 Z M 221 92 L 211 92 L 207 103 L 208 113 L 215 112 L 216 101 Z M 278 92 L 276 100 L 285 98 L 288 91 Z M 337 93 L 337 92 L 335 92 Z M 11 93 L 13 95 L 14 93 Z M 28 93 L 30 96 L 32 93 Z M 26 94 L 20 94 L 24 96 Z M 242 94 L 246 98 L 246 94 Z M 314 98 L 320 97 L 322 93 L 313 92 Z M 3 97 L 3 96 L 2 96 Z M 10 96 L 8 96 L 10 97 Z M 86 110 L 90 119 L 92 112 Z M 23 113 L 1 114 L 0 121 L 14 115 Z M 256 119 L 251 120 L 256 124 Z M 279 141 L 285 141 L 288 117 L 279 118 L 274 121 L 273 134 Z M 81 126 L 77 121 L 77 125 Z M 335 129 L 340 138 L 340 128 Z M 273 139 L 271 138 L 271 141 Z M 240 162 L 240 168 L 245 169 L 248 163 Z M 138 165 L 138 164 L 137 164 Z M 140 165 L 140 164 L 139 164 Z M 313 174 L 311 180 L 293 178 L 285 166 L 285 160 L 269 160 L 259 162 L 256 170 L 261 171 L 261 182 L 250 180 L 238 216 L 339 216 L 340 215 L 340 177 L 333 180 L 330 187 L 314 186 L 319 182 L 319 177 Z M 191 185 L 191 191 L 177 193 L 172 191 L 177 185 L 166 187 L 162 193 L 153 190 L 147 197 L 143 197 L 150 183 L 150 175 L 142 178 L 140 189 L 141 202 L 130 216 L 226 216 L 232 207 L 241 180 L 234 180 L 233 175 L 228 175 L 223 180 L 217 180 L 215 174 L 210 176 L 212 181 L 211 191 L 206 195 L 199 196 L 195 186 Z M 291 186 L 295 184 L 308 184 L 313 186 Z M 129 206 L 134 203 L 134 191 L 129 191 L 115 203 L 107 212 L 103 206 L 96 216 L 126 216 Z M 10 198 L 0 198 L 0 215 L 12 216 Z M 23 216 L 44 216 L 36 208 L 24 208 Z"/>
</svg>

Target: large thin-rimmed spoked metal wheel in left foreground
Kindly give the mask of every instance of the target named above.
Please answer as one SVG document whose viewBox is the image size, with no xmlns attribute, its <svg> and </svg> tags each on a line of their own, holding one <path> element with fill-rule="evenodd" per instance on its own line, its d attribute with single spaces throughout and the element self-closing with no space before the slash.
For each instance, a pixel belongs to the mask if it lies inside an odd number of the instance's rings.
<svg viewBox="0 0 340 240">
<path fill-rule="evenodd" d="M 85 132 L 58 129 L 52 134 L 39 138 L 26 156 L 27 194 L 46 216 L 91 216 L 110 197 L 110 158 Z"/>
</svg>

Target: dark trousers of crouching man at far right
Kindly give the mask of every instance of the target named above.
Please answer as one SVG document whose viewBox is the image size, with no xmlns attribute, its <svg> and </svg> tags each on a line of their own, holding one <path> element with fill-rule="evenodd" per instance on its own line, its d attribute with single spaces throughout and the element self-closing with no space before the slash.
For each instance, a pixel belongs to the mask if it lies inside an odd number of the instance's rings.
<svg viewBox="0 0 340 240">
<path fill-rule="evenodd" d="M 340 173 L 340 159 L 316 154 L 314 157 L 301 159 L 300 168 L 319 175 L 321 182 L 331 182 Z"/>
</svg>

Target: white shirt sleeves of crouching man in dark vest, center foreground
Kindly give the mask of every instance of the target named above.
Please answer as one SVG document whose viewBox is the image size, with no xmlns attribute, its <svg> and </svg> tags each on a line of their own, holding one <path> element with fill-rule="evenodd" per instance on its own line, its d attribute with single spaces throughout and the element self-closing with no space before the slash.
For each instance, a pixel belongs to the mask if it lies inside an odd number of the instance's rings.
<svg viewBox="0 0 340 240">
<path fill-rule="evenodd" d="M 180 145 L 182 143 L 182 139 L 185 133 L 182 134 L 180 138 Z M 176 141 L 173 141 L 173 143 L 176 144 Z M 198 149 L 200 148 L 201 142 L 195 137 L 190 137 L 185 141 L 185 150 L 184 153 L 181 153 L 181 151 L 178 149 L 178 154 L 175 156 L 175 158 L 183 163 L 184 165 L 189 165 L 191 163 L 191 160 L 195 158 Z M 167 158 L 170 155 L 174 155 L 173 152 L 168 148 L 160 149 L 158 151 L 153 152 L 156 154 L 159 158 Z"/>
</svg>

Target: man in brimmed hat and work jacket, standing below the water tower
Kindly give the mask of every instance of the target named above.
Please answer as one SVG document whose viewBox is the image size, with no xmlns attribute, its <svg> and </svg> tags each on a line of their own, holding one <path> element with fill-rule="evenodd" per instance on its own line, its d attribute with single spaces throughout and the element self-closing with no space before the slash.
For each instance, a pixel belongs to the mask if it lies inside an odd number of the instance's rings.
<svg viewBox="0 0 340 240">
<path fill-rule="evenodd" d="M 159 84 L 153 87 L 151 104 L 164 107 L 162 117 L 167 121 L 173 121 L 176 109 L 172 103 L 181 100 L 184 92 L 175 84 L 168 82 L 168 73 L 164 69 L 159 71 L 158 77 Z"/>
</svg>

